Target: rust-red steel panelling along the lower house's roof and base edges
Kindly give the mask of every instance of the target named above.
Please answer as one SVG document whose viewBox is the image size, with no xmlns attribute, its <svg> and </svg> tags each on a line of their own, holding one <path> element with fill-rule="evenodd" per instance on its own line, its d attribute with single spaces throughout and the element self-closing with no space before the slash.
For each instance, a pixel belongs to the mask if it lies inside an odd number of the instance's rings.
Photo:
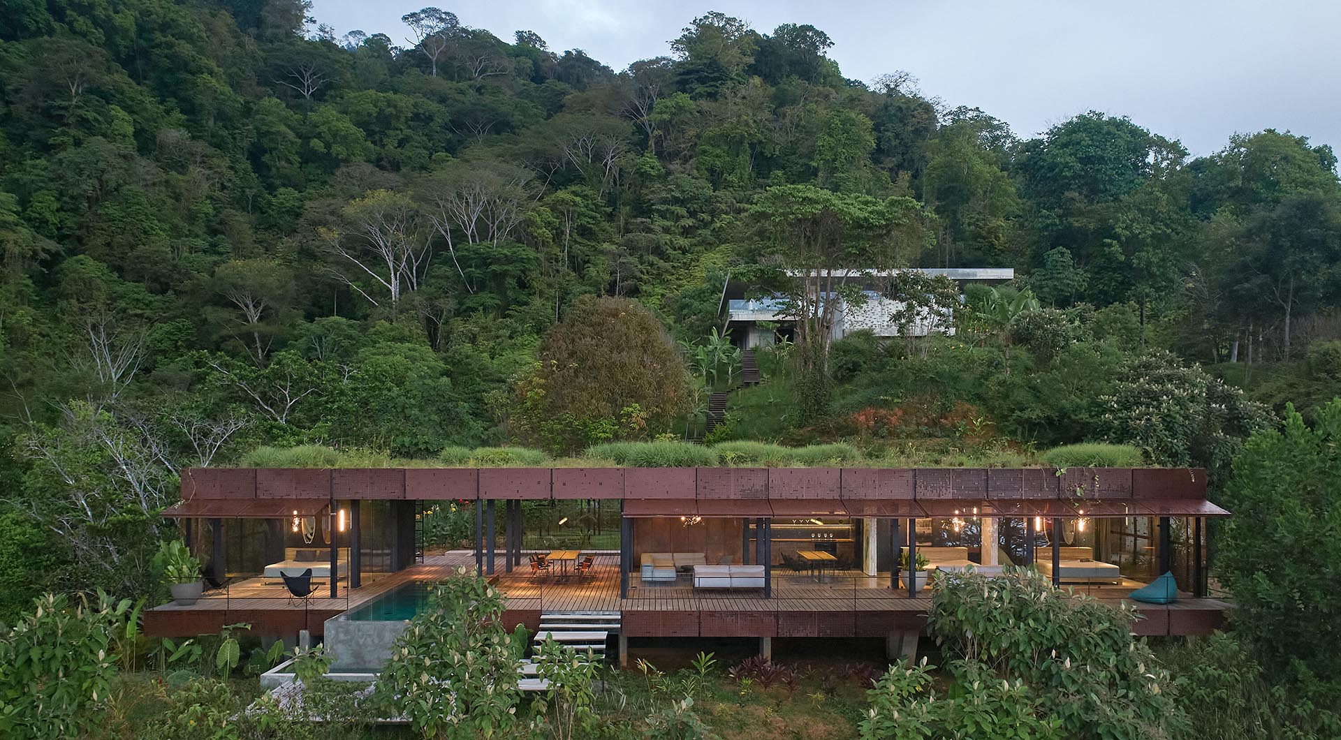
<svg viewBox="0 0 1341 740">
<path fill-rule="evenodd" d="M 616 500 L 622 511 L 620 598 L 625 637 L 880 637 L 893 630 L 917 629 L 925 621 L 925 597 L 889 589 L 889 609 L 833 610 L 707 610 L 656 609 L 637 605 L 630 609 L 630 572 L 637 572 L 636 527 L 645 531 L 656 520 L 680 517 L 735 519 L 744 524 L 744 543 L 736 542 L 748 562 L 748 534 L 756 534 L 756 562 L 766 564 L 764 597 L 772 583 L 771 521 L 778 519 L 838 516 L 881 520 L 881 544 L 896 552 L 916 550 L 916 521 L 920 519 L 959 516 L 974 511 L 982 517 L 1026 520 L 1030 536 L 1034 521 L 1051 532 L 1061 531 L 1067 517 L 1151 517 L 1159 520 L 1168 552 L 1169 517 L 1196 521 L 1198 572 L 1192 591 L 1204 595 L 1202 563 L 1203 527 L 1208 516 L 1228 512 L 1206 500 L 1206 472 L 1196 468 L 355 468 L 355 469 L 267 469 L 267 468 L 192 468 L 181 475 L 182 501 L 166 515 L 178 519 L 219 521 L 235 517 L 286 517 L 300 511 L 310 516 L 337 505 L 354 511 L 354 532 L 349 544 L 353 570 L 347 583 L 341 578 L 335 589 L 359 586 L 358 507 L 378 501 L 393 516 L 413 516 L 417 501 L 480 501 L 475 507 L 476 542 L 473 564 L 481 575 L 495 567 L 511 571 L 520 566 L 520 507 L 518 501 L 535 500 Z M 503 501 L 502 505 L 496 505 Z M 493 534 L 504 528 L 502 542 Z M 904 527 L 900 531 L 900 524 Z M 404 568 L 404 552 L 413 552 L 410 542 L 401 543 L 402 556 L 393 570 Z M 216 530 L 217 532 L 219 530 Z M 762 534 L 762 536 L 759 536 Z M 650 536 L 650 535 L 649 535 Z M 219 538 L 215 538 L 219 542 Z M 1033 542 L 1033 540 L 1030 540 Z M 1054 538 L 1054 546 L 1059 542 Z M 335 571 L 335 546 L 330 547 Z M 1055 547 L 1054 547 L 1055 552 Z M 913 555 L 915 556 L 915 555 Z M 1055 555 L 1054 555 L 1055 556 Z M 1027 558 L 1033 558 L 1029 548 Z M 506 563 L 506 566 L 504 566 Z M 1165 566 L 1161 560 L 1160 566 Z M 882 566 L 888 568 L 888 562 Z M 1055 571 L 1054 571 L 1055 572 Z M 346 597 L 347 598 L 347 597 Z M 1223 602 L 1199 599 L 1202 606 L 1143 610 L 1145 619 L 1136 631 L 1141 634 L 1195 634 L 1210 631 L 1223 618 Z M 312 629 L 326 618 L 320 610 L 279 610 L 282 614 L 247 614 L 253 623 L 275 625 L 283 633 L 291 627 Z M 329 610 L 338 613 L 338 609 Z M 534 611 L 534 613 L 532 613 Z M 213 631 L 227 621 L 239 621 L 243 610 L 227 614 L 173 610 L 146 618 L 150 634 L 197 634 Z M 515 609 L 510 621 L 534 627 L 539 610 Z M 300 625 L 299 625 L 300 622 Z M 197 630 L 198 627 L 198 630 Z M 194 630 L 194 631 L 193 631 Z M 275 631 L 275 630 L 272 630 Z"/>
</svg>

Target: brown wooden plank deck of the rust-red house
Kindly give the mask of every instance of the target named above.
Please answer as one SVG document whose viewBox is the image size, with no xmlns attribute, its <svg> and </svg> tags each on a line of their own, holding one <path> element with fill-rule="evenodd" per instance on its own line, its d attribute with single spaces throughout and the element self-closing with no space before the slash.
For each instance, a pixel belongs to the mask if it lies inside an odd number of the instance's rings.
<svg viewBox="0 0 1341 740">
<path fill-rule="evenodd" d="M 429 555 L 425 562 L 394 574 L 365 574 L 359 589 L 339 583 L 339 597 L 323 598 L 323 584 L 316 598 L 292 602 L 282 584 L 252 578 L 231 583 L 225 590 L 211 591 L 193 606 L 165 605 L 145 615 L 145 631 L 152 635 L 194 635 L 217 631 L 224 625 L 248 622 L 260 634 L 295 634 L 307 629 L 323 631 L 323 622 L 354 609 L 402 583 L 436 582 L 455 568 L 473 571 L 469 551 Z M 705 590 L 693 589 L 689 576 L 676 582 L 642 583 L 638 572 L 629 578 L 629 595 L 620 598 L 618 556 L 601 555 L 586 578 L 561 578 L 558 574 L 531 576 L 523 563 L 514 572 L 504 572 L 503 558 L 495 562 L 491 580 L 507 597 L 507 619 L 535 629 L 542 613 L 618 611 L 625 634 L 646 637 L 864 637 L 880 635 L 893 626 L 920 626 L 931 607 L 928 595 L 909 599 L 902 589 L 890 589 L 889 575 L 868 576 L 861 572 L 829 574 L 818 582 L 806 574 L 774 571 L 772 598 L 763 598 L 762 589 Z M 1136 582 L 1110 586 L 1074 586 L 1108 602 L 1124 597 L 1139 586 Z M 1218 599 L 1195 599 L 1191 595 L 1168 606 L 1136 605 L 1145 617 L 1137 622 L 1137 634 L 1204 634 L 1220 626 L 1228 603 Z"/>
</svg>

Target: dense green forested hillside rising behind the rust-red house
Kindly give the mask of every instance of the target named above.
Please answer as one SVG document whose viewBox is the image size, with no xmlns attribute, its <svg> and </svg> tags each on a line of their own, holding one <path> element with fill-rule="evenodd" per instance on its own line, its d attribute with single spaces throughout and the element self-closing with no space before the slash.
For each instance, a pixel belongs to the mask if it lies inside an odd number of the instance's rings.
<svg viewBox="0 0 1341 740">
<path fill-rule="evenodd" d="M 721 437 L 1108 440 L 1220 464 L 1267 412 L 1195 363 L 1278 408 L 1341 378 L 1336 157 L 1303 137 L 1189 158 L 1090 113 L 1022 138 L 897 55 L 852 80 L 818 28 L 721 13 L 616 71 L 434 8 L 409 40 L 308 11 L 4 4 L 0 590 L 134 583 L 174 471 L 261 444 L 679 436 L 704 404 L 679 379 L 652 395 L 673 408 L 534 424 L 569 387 L 547 332 L 582 296 L 636 299 L 654 322 L 581 341 L 613 355 L 660 322 L 688 347 L 661 367 L 711 386 L 695 353 L 720 349 L 727 275 L 815 264 L 815 213 L 860 267 L 1019 278 L 970 295 L 956 339 L 846 339 L 818 378 L 779 350 Z M 578 334 L 547 351 L 590 358 Z M 822 402 L 791 414 L 798 395 Z"/>
</svg>

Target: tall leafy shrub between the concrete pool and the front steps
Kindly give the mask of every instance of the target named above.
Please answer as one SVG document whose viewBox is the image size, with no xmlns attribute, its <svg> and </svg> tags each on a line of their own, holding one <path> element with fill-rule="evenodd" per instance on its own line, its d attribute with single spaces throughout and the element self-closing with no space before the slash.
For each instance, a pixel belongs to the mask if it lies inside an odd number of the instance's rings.
<svg viewBox="0 0 1341 740">
<path fill-rule="evenodd" d="M 465 568 L 433 587 L 377 681 L 377 704 L 424 737 L 467 739 L 511 732 L 520 645 L 504 631 L 503 597 Z"/>
</svg>

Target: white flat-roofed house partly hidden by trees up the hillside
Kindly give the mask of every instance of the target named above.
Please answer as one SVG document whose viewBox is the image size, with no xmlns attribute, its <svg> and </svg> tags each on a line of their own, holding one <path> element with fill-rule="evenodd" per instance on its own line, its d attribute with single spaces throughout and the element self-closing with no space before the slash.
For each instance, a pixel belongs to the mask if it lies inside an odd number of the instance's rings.
<svg viewBox="0 0 1341 740">
<path fill-rule="evenodd" d="M 944 275 L 960 286 L 968 283 L 982 283 L 996 286 L 1015 278 L 1015 269 L 1010 267 L 923 267 L 907 268 L 924 275 Z M 890 278 L 898 269 L 872 269 L 872 271 L 834 271 L 833 279 L 838 283 L 850 284 L 861 290 L 860 302 L 848 302 L 842 296 L 834 295 L 831 299 L 838 304 L 834 307 L 834 320 L 830 332 L 834 339 L 839 339 L 853 331 L 869 330 L 876 336 L 900 336 L 904 327 L 897 326 L 890 316 L 901 311 L 904 304 L 889 298 L 888 286 Z M 751 350 L 760 346 L 772 345 L 778 336 L 791 336 L 797 316 L 791 315 L 787 300 L 780 295 L 747 298 L 750 286 L 746 283 L 727 283 L 723 295 L 727 300 L 727 328 L 742 349 Z M 821 298 L 821 303 L 829 296 Z M 928 311 L 911 327 L 915 336 L 925 336 L 932 332 L 953 334 L 943 315 Z"/>
</svg>

